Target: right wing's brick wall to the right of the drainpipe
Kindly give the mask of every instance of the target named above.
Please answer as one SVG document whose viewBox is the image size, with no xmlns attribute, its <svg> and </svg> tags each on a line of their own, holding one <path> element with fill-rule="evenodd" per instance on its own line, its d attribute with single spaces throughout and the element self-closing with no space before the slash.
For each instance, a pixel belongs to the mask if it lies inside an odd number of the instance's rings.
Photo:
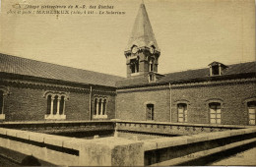
<svg viewBox="0 0 256 167">
<path fill-rule="evenodd" d="M 256 97 L 256 83 L 229 83 L 172 89 L 172 122 L 177 122 L 177 103 L 187 100 L 188 123 L 209 124 L 209 102 L 221 102 L 222 124 L 247 125 L 246 99 Z"/>
</svg>

